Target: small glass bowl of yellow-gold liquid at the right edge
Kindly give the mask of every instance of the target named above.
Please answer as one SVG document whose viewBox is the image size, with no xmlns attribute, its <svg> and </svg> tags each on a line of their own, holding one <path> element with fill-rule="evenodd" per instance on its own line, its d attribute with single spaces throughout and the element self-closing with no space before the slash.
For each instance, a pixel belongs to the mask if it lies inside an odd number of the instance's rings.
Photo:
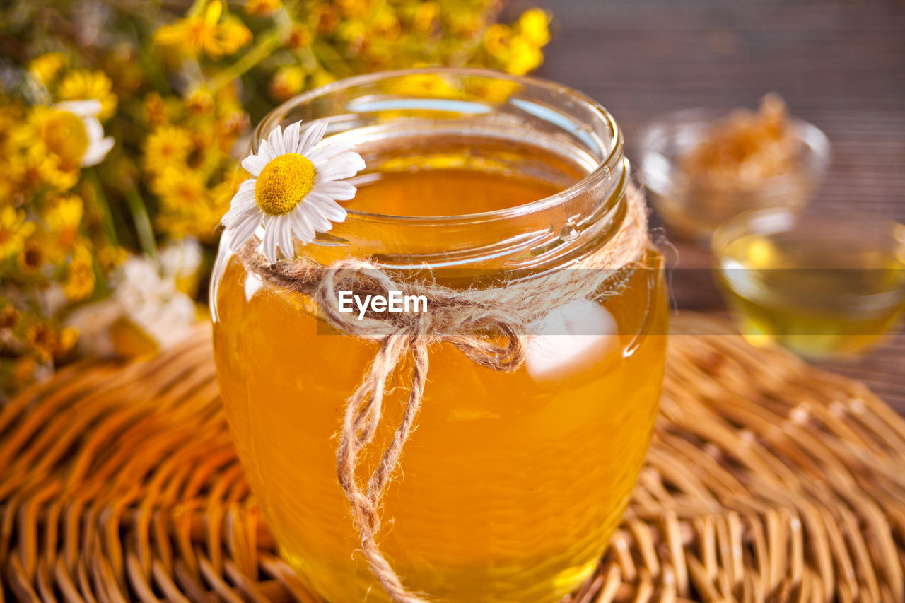
<svg viewBox="0 0 905 603">
<path fill-rule="evenodd" d="M 810 359 L 876 346 L 905 308 L 905 225 L 872 215 L 747 212 L 712 239 L 739 330 Z"/>
</svg>

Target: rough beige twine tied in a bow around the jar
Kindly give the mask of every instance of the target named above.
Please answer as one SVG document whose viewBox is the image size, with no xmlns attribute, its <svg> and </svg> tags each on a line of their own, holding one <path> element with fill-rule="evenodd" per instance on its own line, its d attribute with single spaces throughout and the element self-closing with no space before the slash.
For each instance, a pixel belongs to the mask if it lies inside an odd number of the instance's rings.
<svg viewBox="0 0 905 603">
<path fill-rule="evenodd" d="M 327 267 L 306 258 L 266 263 L 256 244 L 239 251 L 247 270 L 289 291 L 313 296 L 323 318 L 345 334 L 375 341 L 380 348 L 361 384 L 348 398 L 337 450 L 337 477 L 348 498 L 361 548 L 377 581 L 395 603 L 427 603 L 406 589 L 376 543 L 380 505 L 399 464 L 405 441 L 421 409 L 429 365 L 428 348 L 448 343 L 475 364 L 498 371 L 518 369 L 525 361 L 529 325 L 554 308 L 598 292 L 613 274 L 637 263 L 649 245 L 643 195 L 629 187 L 618 230 L 574 268 L 526 282 L 486 289 L 458 290 L 435 283 L 396 282 L 376 263 L 339 260 Z M 388 295 L 390 291 L 424 295 L 427 311 L 383 313 L 359 318 L 339 311 L 339 291 Z M 356 479 L 361 452 L 380 425 L 386 380 L 411 356 L 414 360 L 405 412 L 376 469 L 363 485 Z"/>
</svg>

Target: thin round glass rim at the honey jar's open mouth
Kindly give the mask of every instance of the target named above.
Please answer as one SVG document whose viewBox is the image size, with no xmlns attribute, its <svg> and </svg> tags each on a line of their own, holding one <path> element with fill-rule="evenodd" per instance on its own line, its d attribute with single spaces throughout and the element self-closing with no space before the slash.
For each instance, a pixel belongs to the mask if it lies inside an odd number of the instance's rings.
<svg viewBox="0 0 905 603">
<path fill-rule="evenodd" d="M 534 88 L 535 90 L 548 91 L 554 95 L 562 96 L 564 104 L 567 107 L 580 105 L 594 115 L 600 123 L 613 133 L 612 148 L 603 157 L 598 158 L 594 169 L 590 170 L 585 177 L 564 188 L 553 195 L 545 196 L 529 203 L 519 206 L 504 207 L 501 209 L 491 210 L 487 212 L 478 212 L 473 214 L 458 215 L 392 215 L 380 214 L 375 212 L 366 212 L 353 208 L 347 208 L 347 218 L 353 220 L 367 220 L 372 223 L 405 223 L 412 225 L 432 225 L 432 224 L 448 224 L 448 223 L 464 223 L 474 224 L 487 222 L 491 220 L 507 219 L 519 215 L 529 215 L 535 212 L 546 210 L 553 206 L 558 206 L 568 199 L 581 195 L 588 187 L 594 187 L 595 184 L 610 177 L 616 171 L 617 165 L 624 160 L 624 138 L 622 129 L 614 120 L 613 115 L 604 108 L 602 104 L 590 98 L 580 91 L 549 81 L 543 78 L 512 75 L 510 73 L 498 72 L 491 69 L 481 68 L 465 68 L 465 67 L 425 67 L 417 69 L 401 69 L 389 70 L 382 72 L 366 73 L 344 78 L 338 81 L 332 81 L 323 86 L 319 86 L 313 90 L 303 92 L 288 101 L 284 101 L 274 109 L 272 109 L 258 123 L 252 131 L 252 151 L 256 151 L 260 141 L 266 138 L 266 135 L 274 129 L 281 120 L 291 112 L 291 110 L 305 104 L 315 101 L 319 97 L 323 97 L 338 91 L 360 86 L 363 84 L 391 80 L 393 78 L 402 78 L 409 75 L 457 75 L 457 76 L 475 76 L 489 79 L 497 79 L 501 81 L 512 81 L 525 87 Z"/>
</svg>

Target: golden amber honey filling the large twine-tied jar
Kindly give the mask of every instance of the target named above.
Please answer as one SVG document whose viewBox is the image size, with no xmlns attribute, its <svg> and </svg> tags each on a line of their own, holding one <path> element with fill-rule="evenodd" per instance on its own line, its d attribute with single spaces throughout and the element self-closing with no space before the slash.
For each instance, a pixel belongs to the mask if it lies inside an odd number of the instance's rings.
<svg viewBox="0 0 905 603">
<path fill-rule="evenodd" d="M 452 215 L 550 192 L 540 182 L 437 169 L 383 178 L 350 206 Z M 476 366 L 447 344 L 430 350 L 424 407 L 377 538 L 409 589 L 456 603 L 553 602 L 594 570 L 650 443 L 667 306 L 651 271 L 634 274 L 622 294 L 588 303 L 617 325 L 611 336 L 578 338 L 565 353 L 550 352 L 557 358 L 535 354 L 514 373 Z M 306 298 L 246 287 L 234 260 L 218 312 L 226 410 L 283 556 L 332 603 L 388 600 L 357 552 L 335 458 L 346 399 L 376 346 L 325 334 Z M 407 374 L 395 375 L 362 478 L 401 417 Z"/>
</svg>

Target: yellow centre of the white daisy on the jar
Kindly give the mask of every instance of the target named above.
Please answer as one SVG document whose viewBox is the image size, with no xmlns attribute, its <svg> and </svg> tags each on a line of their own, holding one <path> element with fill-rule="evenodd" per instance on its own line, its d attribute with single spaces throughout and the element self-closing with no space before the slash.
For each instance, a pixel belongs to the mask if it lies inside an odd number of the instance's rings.
<svg viewBox="0 0 905 603">
<path fill-rule="evenodd" d="M 299 153 L 274 158 L 254 185 L 254 200 L 269 215 L 289 214 L 314 187 L 314 164 Z"/>
</svg>

